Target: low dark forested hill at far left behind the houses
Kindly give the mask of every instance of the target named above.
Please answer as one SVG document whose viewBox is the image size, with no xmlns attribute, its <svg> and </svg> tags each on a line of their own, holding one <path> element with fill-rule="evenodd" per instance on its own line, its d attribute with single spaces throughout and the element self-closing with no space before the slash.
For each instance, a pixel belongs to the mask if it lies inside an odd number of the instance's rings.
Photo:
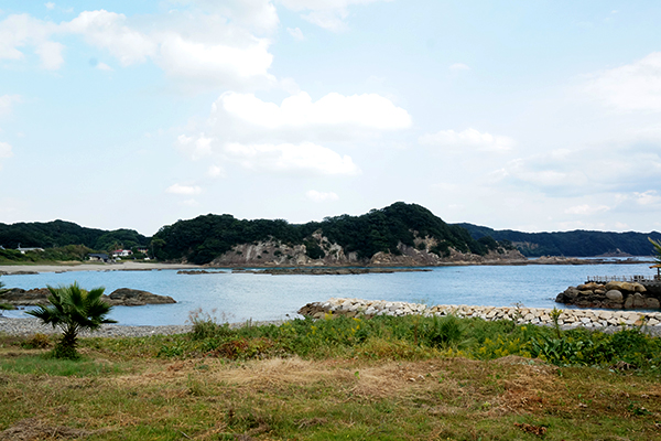
<svg viewBox="0 0 661 441">
<path fill-rule="evenodd" d="M 110 250 L 113 246 L 132 248 L 149 245 L 150 238 L 132 229 L 112 232 L 86 228 L 72 222 L 0 224 L 0 245 L 4 248 L 57 248 L 83 245 L 95 250 Z"/>
</svg>

